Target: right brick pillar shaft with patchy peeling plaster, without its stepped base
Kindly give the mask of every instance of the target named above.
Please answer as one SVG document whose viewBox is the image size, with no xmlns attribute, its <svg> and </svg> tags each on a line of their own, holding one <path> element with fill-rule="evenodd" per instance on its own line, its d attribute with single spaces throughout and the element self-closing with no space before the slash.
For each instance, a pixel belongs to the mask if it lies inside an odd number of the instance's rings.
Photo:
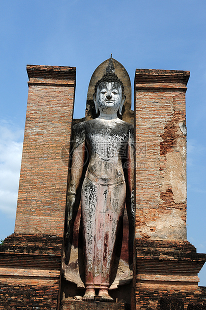
<svg viewBox="0 0 206 310">
<path fill-rule="evenodd" d="M 186 239 L 189 71 L 136 69 L 136 237 Z"/>
</svg>

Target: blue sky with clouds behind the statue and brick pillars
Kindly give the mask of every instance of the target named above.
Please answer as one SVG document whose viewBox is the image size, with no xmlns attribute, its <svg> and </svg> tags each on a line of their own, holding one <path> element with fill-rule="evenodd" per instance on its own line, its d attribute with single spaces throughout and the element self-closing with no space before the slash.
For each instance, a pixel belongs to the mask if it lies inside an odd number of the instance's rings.
<svg viewBox="0 0 206 310">
<path fill-rule="evenodd" d="M 26 64 L 75 66 L 74 117 L 112 52 L 128 71 L 190 70 L 186 92 L 187 238 L 206 252 L 205 0 L 0 1 L 0 238 L 14 229 L 27 101 Z M 206 266 L 199 273 L 206 286 Z"/>
</svg>

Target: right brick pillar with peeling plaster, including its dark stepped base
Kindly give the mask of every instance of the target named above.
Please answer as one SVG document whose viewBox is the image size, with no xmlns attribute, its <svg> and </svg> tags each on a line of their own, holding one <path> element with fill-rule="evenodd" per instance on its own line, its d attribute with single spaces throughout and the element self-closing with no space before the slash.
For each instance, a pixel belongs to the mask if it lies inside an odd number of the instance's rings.
<svg viewBox="0 0 206 310">
<path fill-rule="evenodd" d="M 186 308 L 205 296 L 197 273 L 206 255 L 186 240 L 188 78 L 188 71 L 135 72 L 136 310 L 165 303 Z"/>
</svg>

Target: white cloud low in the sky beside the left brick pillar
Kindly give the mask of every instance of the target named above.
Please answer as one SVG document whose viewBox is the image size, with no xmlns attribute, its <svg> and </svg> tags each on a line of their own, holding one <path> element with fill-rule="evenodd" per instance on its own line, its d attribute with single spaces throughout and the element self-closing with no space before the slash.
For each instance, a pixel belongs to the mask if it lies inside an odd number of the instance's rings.
<svg viewBox="0 0 206 310">
<path fill-rule="evenodd" d="M 14 217 L 16 210 L 23 130 L 0 120 L 0 210 Z"/>
</svg>

